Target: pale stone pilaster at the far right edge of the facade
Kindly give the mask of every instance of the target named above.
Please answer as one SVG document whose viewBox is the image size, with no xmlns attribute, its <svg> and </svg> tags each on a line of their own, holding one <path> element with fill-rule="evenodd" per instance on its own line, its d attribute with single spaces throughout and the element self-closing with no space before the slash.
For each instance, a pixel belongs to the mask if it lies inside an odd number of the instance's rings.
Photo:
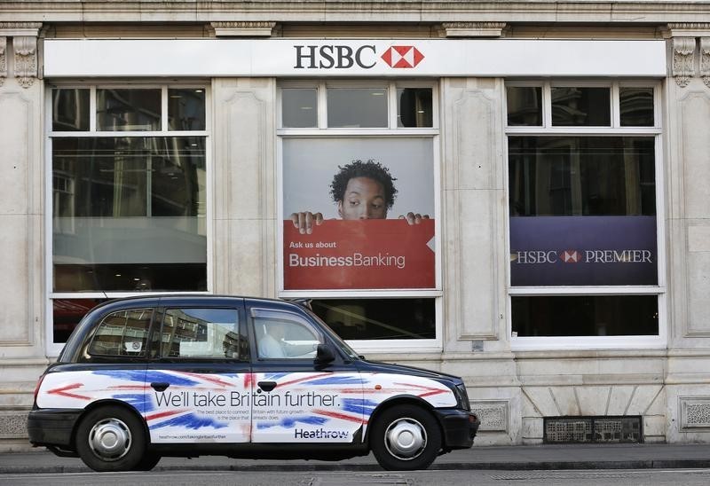
<svg viewBox="0 0 710 486">
<path fill-rule="evenodd" d="M 710 24 L 666 35 L 667 441 L 710 442 Z"/>
</svg>

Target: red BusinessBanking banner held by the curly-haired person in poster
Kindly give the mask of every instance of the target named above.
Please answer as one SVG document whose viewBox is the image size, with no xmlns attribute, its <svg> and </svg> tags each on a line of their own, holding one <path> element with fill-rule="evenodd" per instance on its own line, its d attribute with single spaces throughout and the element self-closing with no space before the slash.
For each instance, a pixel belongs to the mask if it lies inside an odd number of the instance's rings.
<svg viewBox="0 0 710 486">
<path fill-rule="evenodd" d="M 327 220 L 301 234 L 283 223 L 285 290 L 434 288 L 434 220 Z"/>
</svg>

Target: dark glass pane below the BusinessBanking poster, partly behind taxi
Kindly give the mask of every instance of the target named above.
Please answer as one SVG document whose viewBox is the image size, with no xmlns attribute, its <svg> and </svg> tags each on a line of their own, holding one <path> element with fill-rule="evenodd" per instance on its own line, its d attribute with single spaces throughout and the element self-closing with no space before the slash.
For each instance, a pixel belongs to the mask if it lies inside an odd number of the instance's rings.
<svg viewBox="0 0 710 486">
<path fill-rule="evenodd" d="M 434 299 L 318 299 L 312 310 L 348 340 L 434 339 Z"/>
</svg>

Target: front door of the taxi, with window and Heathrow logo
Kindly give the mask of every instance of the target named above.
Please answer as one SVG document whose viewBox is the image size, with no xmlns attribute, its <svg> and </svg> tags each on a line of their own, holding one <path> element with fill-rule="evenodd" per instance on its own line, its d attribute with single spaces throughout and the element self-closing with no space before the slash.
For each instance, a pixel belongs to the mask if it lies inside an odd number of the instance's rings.
<svg viewBox="0 0 710 486">
<path fill-rule="evenodd" d="M 317 364 L 316 349 L 327 336 L 304 315 L 259 307 L 248 307 L 248 315 L 255 338 L 252 442 L 362 442 L 363 388 L 355 365 L 340 356 Z"/>
</svg>

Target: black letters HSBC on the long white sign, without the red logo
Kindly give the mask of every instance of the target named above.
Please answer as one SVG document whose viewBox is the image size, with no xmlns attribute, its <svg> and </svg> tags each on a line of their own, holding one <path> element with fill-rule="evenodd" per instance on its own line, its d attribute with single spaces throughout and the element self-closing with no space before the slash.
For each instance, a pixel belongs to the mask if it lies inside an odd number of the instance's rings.
<svg viewBox="0 0 710 486">
<path fill-rule="evenodd" d="M 370 69 L 376 64 L 374 45 L 352 49 L 349 45 L 295 45 L 295 69 L 348 69 L 359 66 Z"/>
</svg>

